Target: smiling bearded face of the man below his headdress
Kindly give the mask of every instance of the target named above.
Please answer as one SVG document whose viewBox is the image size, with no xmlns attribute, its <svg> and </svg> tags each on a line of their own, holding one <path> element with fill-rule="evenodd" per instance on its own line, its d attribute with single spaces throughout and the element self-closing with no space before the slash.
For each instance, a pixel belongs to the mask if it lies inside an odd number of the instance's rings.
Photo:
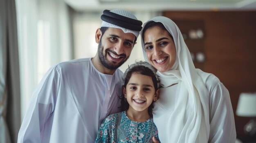
<svg viewBox="0 0 256 143">
<path fill-rule="evenodd" d="M 103 66 L 110 70 L 119 68 L 130 57 L 135 35 L 121 29 L 108 28 L 100 37 L 98 55 Z"/>
</svg>

